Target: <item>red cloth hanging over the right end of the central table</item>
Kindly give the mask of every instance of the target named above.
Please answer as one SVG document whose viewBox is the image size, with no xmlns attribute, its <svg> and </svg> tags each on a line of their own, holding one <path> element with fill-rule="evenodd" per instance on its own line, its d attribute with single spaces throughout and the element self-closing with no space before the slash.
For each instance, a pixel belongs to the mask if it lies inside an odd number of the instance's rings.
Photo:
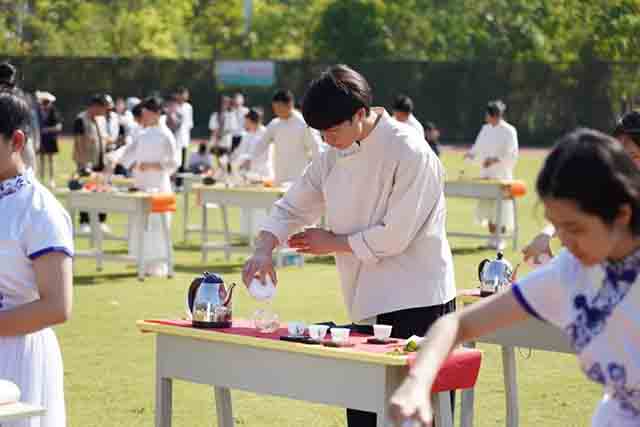
<svg viewBox="0 0 640 427">
<path fill-rule="evenodd" d="M 452 352 L 438 372 L 432 393 L 447 390 L 473 388 L 480 372 L 482 352 L 473 349 L 459 349 Z M 415 357 L 409 359 L 409 366 L 413 366 Z"/>
</svg>

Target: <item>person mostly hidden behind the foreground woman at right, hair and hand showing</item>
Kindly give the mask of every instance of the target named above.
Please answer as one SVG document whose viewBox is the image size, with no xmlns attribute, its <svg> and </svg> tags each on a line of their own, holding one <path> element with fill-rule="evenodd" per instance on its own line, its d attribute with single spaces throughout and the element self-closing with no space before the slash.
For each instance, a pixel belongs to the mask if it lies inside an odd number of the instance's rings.
<svg viewBox="0 0 640 427">
<path fill-rule="evenodd" d="M 623 114 L 613 129 L 613 136 L 620 141 L 636 167 L 640 167 L 640 111 Z M 522 250 L 525 261 L 532 260 L 533 264 L 539 264 L 541 257 L 552 258 L 551 239 L 555 234 L 553 225 L 547 224 Z"/>
</svg>

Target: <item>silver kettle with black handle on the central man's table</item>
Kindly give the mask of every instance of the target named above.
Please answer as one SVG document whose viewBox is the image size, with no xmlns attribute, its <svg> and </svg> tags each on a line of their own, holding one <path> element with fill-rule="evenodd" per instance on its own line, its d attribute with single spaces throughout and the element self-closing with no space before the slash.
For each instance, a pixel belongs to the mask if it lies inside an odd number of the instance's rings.
<svg viewBox="0 0 640 427">
<path fill-rule="evenodd" d="M 232 283 L 227 289 L 217 274 L 206 272 L 191 282 L 187 292 L 187 315 L 196 328 L 230 328 Z"/>
</svg>

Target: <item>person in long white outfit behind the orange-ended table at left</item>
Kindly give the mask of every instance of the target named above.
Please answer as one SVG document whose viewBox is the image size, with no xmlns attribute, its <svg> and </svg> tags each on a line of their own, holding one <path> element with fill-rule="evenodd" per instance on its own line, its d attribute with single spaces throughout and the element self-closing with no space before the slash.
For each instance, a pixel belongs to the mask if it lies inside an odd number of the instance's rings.
<svg viewBox="0 0 640 427">
<path fill-rule="evenodd" d="M 126 146 L 120 157 L 126 167 L 134 168 L 135 187 L 147 192 L 171 193 L 171 175 L 178 168 L 176 141 L 166 126 L 160 123 L 162 101 L 149 97 L 142 102 L 142 128 L 134 141 Z M 157 258 L 166 258 L 167 244 L 162 231 L 162 216 L 171 220 L 169 213 L 153 213 L 144 231 L 145 273 L 152 276 L 166 276 L 168 265 Z M 130 253 L 137 253 L 137 230 L 142 224 L 131 225 L 129 239 Z"/>
</svg>

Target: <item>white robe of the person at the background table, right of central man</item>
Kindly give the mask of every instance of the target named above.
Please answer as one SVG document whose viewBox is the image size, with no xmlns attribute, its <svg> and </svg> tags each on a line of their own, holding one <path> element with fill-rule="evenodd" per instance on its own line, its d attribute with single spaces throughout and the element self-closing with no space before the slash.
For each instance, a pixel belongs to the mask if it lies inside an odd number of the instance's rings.
<svg viewBox="0 0 640 427">
<path fill-rule="evenodd" d="M 518 161 L 518 132 L 504 120 L 496 126 L 485 124 L 476 142 L 471 148 L 474 160 L 482 164 L 488 158 L 498 158 L 499 162 L 488 168 L 482 167 L 480 178 L 486 179 L 513 179 L 513 170 Z M 497 206 L 491 200 L 481 200 L 476 209 L 476 220 L 482 224 L 496 223 Z M 515 214 L 513 202 L 502 202 L 502 224 L 507 230 L 513 230 Z"/>
</svg>

